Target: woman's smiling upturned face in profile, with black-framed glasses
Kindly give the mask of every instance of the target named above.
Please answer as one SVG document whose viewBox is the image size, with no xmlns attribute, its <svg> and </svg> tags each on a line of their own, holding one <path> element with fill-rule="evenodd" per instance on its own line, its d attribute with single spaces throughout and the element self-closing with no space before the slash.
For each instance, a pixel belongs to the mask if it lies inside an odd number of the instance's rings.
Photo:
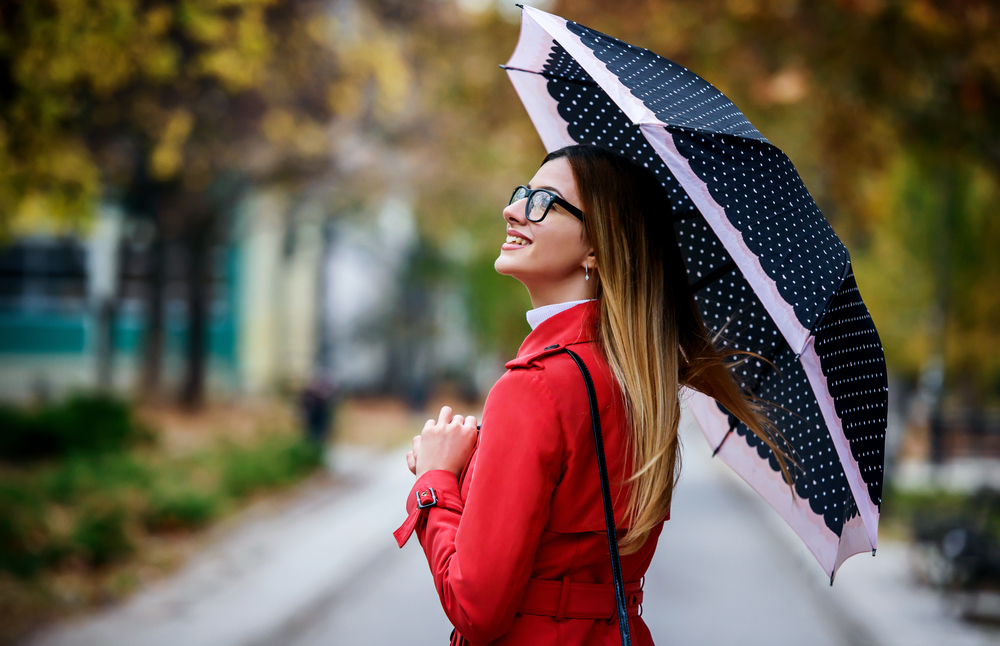
<svg viewBox="0 0 1000 646">
<path fill-rule="evenodd" d="M 580 208 L 573 171 L 565 158 L 543 164 L 527 186 L 547 188 Z M 522 199 L 503 210 L 507 242 L 501 245 L 500 257 L 493 265 L 497 272 L 517 278 L 529 291 L 546 291 L 576 281 L 582 286 L 584 267 L 594 266 L 583 222 L 558 204 L 549 208 L 541 222 L 531 222 L 524 216 L 524 205 Z"/>
</svg>

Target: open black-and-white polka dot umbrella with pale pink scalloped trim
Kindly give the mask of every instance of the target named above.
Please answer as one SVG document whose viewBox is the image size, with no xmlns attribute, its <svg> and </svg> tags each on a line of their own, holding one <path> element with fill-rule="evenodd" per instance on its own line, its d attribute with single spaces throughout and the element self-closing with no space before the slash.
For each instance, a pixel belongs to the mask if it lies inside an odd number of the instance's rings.
<svg viewBox="0 0 1000 646">
<path fill-rule="evenodd" d="M 715 454 L 792 526 L 830 576 L 877 539 L 887 386 L 851 260 L 784 153 L 693 72 L 531 7 L 506 65 L 547 150 L 600 144 L 660 178 L 713 332 L 756 352 L 744 385 L 798 463 L 708 396 L 685 397 Z"/>
</svg>

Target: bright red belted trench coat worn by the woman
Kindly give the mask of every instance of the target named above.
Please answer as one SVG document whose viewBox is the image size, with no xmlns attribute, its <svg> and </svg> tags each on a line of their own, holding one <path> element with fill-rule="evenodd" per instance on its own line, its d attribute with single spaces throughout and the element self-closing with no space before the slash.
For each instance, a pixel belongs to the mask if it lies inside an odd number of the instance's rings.
<svg viewBox="0 0 1000 646">
<path fill-rule="evenodd" d="M 535 328 L 490 390 L 461 476 L 429 471 L 407 497 L 409 517 L 396 538 L 402 546 L 416 531 L 456 629 L 452 644 L 621 643 L 587 389 L 572 358 L 558 352 L 570 347 L 593 377 L 621 527 L 631 460 L 621 392 L 594 341 L 596 313 L 596 301 L 589 301 Z M 418 499 L 430 506 L 418 508 Z M 637 553 L 621 559 L 633 603 L 641 601 L 635 592 L 662 528 L 661 522 Z M 604 585 L 578 585 L 594 583 Z M 586 606 L 582 597 L 593 589 L 604 595 L 607 619 L 572 618 L 570 606 Z M 539 612 L 546 596 L 548 610 Z M 568 612 L 555 617 L 560 604 Z M 641 618 L 633 616 L 630 625 L 633 644 L 653 643 Z"/>
</svg>

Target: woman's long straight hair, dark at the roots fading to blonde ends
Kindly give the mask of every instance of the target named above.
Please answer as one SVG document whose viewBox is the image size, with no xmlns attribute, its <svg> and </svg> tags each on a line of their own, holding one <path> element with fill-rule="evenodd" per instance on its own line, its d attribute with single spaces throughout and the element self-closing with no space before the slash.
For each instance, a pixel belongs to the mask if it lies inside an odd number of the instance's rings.
<svg viewBox="0 0 1000 646">
<path fill-rule="evenodd" d="M 786 482 L 792 475 L 763 404 L 732 373 L 733 360 L 751 353 L 716 348 L 702 321 L 659 181 L 599 146 L 568 146 L 542 163 L 558 158 L 566 158 L 576 180 L 597 260 L 599 345 L 625 399 L 634 472 L 628 531 L 619 543 L 629 554 L 670 509 L 680 475 L 681 386 L 722 404 L 771 448 Z"/>
</svg>

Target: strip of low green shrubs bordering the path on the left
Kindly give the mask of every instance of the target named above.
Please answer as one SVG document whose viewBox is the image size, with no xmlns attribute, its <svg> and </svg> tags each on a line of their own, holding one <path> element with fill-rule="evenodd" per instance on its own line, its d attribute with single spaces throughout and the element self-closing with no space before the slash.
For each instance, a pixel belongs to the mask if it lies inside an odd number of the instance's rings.
<svg viewBox="0 0 1000 646">
<path fill-rule="evenodd" d="M 28 578 L 68 561 L 116 561 L 144 536 L 204 526 L 322 460 L 322 449 L 300 436 L 272 435 L 180 457 L 111 451 L 0 465 L 0 572 Z"/>
</svg>

